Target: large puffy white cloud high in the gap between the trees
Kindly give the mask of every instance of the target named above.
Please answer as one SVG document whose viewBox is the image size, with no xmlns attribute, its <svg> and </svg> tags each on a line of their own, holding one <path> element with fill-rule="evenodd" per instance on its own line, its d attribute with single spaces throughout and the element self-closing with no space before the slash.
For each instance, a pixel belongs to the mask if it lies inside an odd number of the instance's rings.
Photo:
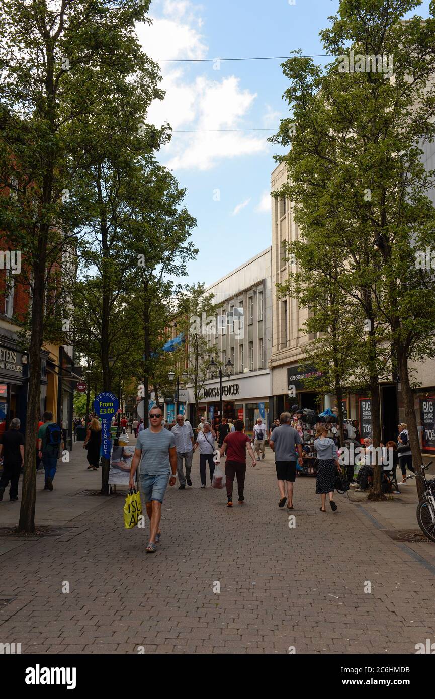
<svg viewBox="0 0 435 699">
<path fill-rule="evenodd" d="M 154 18 L 152 27 L 137 27 L 145 52 L 157 60 L 206 57 L 208 46 L 198 9 L 188 0 L 157 2 L 152 10 L 163 16 Z M 204 66 L 204 73 L 192 78 L 192 64 L 160 64 L 160 86 L 166 96 L 163 101 L 152 103 L 149 121 L 157 127 L 169 122 L 174 131 L 194 131 L 173 134 L 171 143 L 162 149 L 166 166 L 173 170 L 204 171 L 222 159 L 268 150 L 266 134 L 259 137 L 243 131 L 222 133 L 243 128 L 257 94 L 243 89 L 234 75 L 220 78 L 212 63 Z"/>
</svg>

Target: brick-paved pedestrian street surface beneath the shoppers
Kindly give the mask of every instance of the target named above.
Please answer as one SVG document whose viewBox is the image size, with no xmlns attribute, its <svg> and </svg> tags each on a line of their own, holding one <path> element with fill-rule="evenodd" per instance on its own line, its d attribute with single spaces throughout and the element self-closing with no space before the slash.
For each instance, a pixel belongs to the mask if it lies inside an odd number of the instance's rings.
<svg viewBox="0 0 435 699">
<path fill-rule="evenodd" d="M 55 491 L 37 477 L 36 522 L 62 525 L 57 538 L 0 538 L 0 640 L 48 654 L 413 654 L 435 639 L 434 545 L 383 532 L 418 528 L 404 515 L 415 486 L 382 505 L 337 495 L 334 514 L 320 512 L 315 479 L 299 478 L 289 513 L 266 454 L 232 510 L 224 491 L 199 488 L 195 455 L 193 487 L 168 489 L 146 554 L 148 527 L 124 529 L 122 496 L 76 494 L 100 474 L 75 447 Z M 16 524 L 19 504 L 5 498 L 0 526 Z"/>
</svg>

